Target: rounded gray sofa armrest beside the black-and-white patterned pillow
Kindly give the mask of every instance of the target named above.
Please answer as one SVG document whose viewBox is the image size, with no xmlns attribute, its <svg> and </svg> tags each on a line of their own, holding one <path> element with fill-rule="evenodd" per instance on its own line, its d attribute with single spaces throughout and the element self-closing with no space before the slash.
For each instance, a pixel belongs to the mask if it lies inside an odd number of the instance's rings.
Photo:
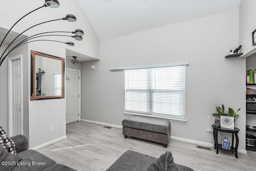
<svg viewBox="0 0 256 171">
<path fill-rule="evenodd" d="M 28 149 L 28 139 L 24 135 L 14 135 L 10 139 L 14 141 L 17 153 Z"/>
</svg>

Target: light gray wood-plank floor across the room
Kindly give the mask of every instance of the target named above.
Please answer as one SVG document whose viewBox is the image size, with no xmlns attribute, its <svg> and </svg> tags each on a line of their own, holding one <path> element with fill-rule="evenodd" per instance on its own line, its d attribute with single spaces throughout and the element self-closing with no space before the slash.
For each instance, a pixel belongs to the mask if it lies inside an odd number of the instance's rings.
<svg viewBox="0 0 256 171">
<path fill-rule="evenodd" d="M 238 159 L 229 151 L 212 151 L 196 145 L 170 140 L 168 147 L 160 143 L 128 137 L 122 129 L 104 128 L 87 122 L 66 125 L 67 139 L 49 145 L 38 152 L 78 171 L 105 171 L 127 150 L 134 150 L 153 157 L 172 151 L 174 162 L 194 171 L 256 171 L 256 152 L 238 153 Z"/>
</svg>

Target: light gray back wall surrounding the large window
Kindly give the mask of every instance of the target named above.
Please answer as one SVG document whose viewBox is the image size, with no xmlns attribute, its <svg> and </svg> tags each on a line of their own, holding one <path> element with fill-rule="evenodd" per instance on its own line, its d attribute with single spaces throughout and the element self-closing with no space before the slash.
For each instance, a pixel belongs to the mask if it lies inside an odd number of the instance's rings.
<svg viewBox="0 0 256 171">
<path fill-rule="evenodd" d="M 245 149 L 245 59 L 227 58 L 238 46 L 238 10 L 101 41 L 101 60 L 82 63 L 81 119 L 122 125 L 124 72 L 109 68 L 190 62 L 186 67 L 186 123 L 171 135 L 214 143 L 206 133 L 215 105 L 241 108 L 239 148 Z M 96 69 L 90 70 L 95 64 Z M 223 135 L 222 135 L 223 138 Z"/>
</svg>

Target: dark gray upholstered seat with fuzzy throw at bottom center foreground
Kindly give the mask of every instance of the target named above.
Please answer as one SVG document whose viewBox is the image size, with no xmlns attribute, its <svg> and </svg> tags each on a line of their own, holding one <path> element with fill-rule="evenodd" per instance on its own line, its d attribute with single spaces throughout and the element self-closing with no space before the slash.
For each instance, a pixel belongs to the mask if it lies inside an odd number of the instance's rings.
<svg viewBox="0 0 256 171">
<path fill-rule="evenodd" d="M 193 171 L 193 169 L 174 163 L 170 151 L 155 158 L 128 150 L 106 171 Z"/>
</svg>

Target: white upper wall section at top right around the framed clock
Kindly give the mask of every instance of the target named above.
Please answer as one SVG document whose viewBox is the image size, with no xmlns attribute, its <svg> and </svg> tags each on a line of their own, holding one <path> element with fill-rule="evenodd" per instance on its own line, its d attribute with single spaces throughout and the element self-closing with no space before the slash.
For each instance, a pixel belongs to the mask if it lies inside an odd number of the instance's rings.
<svg viewBox="0 0 256 171">
<path fill-rule="evenodd" d="M 241 52 L 248 57 L 256 52 L 256 46 L 252 46 L 252 31 L 256 29 L 256 1 L 241 0 L 239 6 L 239 44 Z"/>
</svg>

